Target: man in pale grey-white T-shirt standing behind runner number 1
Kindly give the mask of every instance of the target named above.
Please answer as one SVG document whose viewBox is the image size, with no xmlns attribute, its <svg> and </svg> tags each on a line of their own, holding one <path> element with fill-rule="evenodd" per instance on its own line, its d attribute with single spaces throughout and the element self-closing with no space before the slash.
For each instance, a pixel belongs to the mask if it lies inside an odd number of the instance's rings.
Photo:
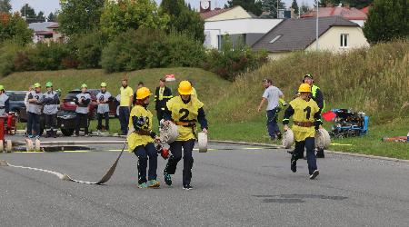
<svg viewBox="0 0 409 227">
<path fill-rule="evenodd" d="M 279 100 L 284 98 L 284 94 L 277 87 L 273 86 L 271 79 L 264 79 L 264 94 L 262 101 L 258 106 L 258 112 L 261 112 L 261 109 L 265 102 L 267 102 L 267 130 L 270 138 L 272 140 L 281 139 L 282 134 L 280 133 L 280 128 L 277 124 L 278 112 L 279 112 Z"/>
</svg>

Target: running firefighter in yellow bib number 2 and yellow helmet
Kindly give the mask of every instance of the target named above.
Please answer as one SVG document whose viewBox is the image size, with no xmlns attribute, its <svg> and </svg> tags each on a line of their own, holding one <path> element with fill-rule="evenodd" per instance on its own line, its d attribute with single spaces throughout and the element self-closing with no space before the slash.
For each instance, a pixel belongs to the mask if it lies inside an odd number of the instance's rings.
<svg viewBox="0 0 409 227">
<path fill-rule="evenodd" d="M 166 164 L 164 174 L 165 183 L 172 185 L 171 175 L 175 174 L 177 163 L 182 159 L 184 150 L 183 188 L 192 189 L 192 167 L 194 163 L 192 151 L 195 146 L 196 123 L 200 123 L 202 131 L 207 133 L 207 120 L 205 118 L 204 104 L 193 94 L 192 84 L 182 81 L 178 88 L 179 96 L 175 96 L 166 103 L 165 123 L 174 122 L 178 125 L 179 136 L 174 143 L 170 143 L 172 153 Z"/>
</svg>

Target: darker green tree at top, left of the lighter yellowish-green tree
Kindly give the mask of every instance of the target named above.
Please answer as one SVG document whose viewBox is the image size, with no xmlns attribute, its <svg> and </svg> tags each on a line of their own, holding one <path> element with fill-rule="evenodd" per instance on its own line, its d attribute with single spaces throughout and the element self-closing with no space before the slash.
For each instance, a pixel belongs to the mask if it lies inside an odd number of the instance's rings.
<svg viewBox="0 0 409 227">
<path fill-rule="evenodd" d="M 84 34 L 99 26 L 105 0 L 60 0 L 57 21 L 68 36 Z"/>
</svg>

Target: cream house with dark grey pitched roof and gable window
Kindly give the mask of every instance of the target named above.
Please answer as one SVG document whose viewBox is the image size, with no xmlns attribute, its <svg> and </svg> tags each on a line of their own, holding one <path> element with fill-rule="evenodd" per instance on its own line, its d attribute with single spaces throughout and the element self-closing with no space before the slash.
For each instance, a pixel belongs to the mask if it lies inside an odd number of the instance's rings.
<svg viewBox="0 0 409 227">
<path fill-rule="evenodd" d="M 294 51 L 316 50 L 316 19 L 286 19 L 258 40 L 254 50 L 266 50 L 277 59 Z M 340 16 L 319 17 L 318 50 L 343 53 L 369 46 L 362 28 Z"/>
</svg>

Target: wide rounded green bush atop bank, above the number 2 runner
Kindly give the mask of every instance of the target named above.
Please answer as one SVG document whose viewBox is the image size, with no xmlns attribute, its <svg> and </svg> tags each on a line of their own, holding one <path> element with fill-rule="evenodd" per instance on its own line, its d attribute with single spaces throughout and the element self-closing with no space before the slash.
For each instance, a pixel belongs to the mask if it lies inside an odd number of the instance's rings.
<svg viewBox="0 0 409 227">
<path fill-rule="evenodd" d="M 203 44 L 189 35 L 166 35 L 163 30 L 128 30 L 104 49 L 101 64 L 107 72 L 170 66 L 198 66 L 205 58 Z"/>
</svg>

